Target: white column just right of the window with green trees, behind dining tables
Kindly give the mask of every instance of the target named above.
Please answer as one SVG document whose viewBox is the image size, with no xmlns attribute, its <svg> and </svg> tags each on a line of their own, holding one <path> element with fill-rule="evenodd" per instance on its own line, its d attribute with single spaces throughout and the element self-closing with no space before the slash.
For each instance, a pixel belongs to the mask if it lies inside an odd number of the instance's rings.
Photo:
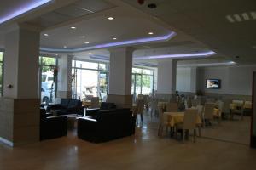
<svg viewBox="0 0 256 170">
<path fill-rule="evenodd" d="M 157 96 L 170 99 L 176 91 L 177 60 L 162 60 L 158 63 Z"/>
</svg>

